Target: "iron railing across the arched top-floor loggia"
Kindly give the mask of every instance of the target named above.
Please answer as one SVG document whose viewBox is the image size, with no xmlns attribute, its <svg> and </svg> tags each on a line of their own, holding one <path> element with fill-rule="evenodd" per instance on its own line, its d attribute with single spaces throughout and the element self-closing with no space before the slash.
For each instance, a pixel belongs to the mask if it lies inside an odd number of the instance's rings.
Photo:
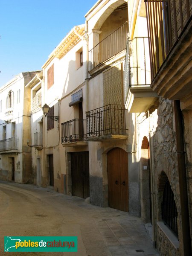
<svg viewBox="0 0 192 256">
<path fill-rule="evenodd" d="M 99 42 L 99 44 L 93 47 L 93 49 L 89 51 L 89 71 L 125 49 L 127 34 L 128 22 L 125 22 L 122 26 Z"/>
</svg>

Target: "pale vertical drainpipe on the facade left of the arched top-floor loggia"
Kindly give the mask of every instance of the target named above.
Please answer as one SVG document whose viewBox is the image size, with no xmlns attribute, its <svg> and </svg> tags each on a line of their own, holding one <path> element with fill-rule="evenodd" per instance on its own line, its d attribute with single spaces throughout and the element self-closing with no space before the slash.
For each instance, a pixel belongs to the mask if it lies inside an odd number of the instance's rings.
<svg viewBox="0 0 192 256">
<path fill-rule="evenodd" d="M 89 87 L 88 87 L 88 61 L 89 61 L 89 48 L 88 48 L 88 21 L 85 21 L 85 40 L 86 40 L 86 61 L 85 61 L 85 90 L 86 90 L 86 112 L 89 111 Z"/>
</svg>

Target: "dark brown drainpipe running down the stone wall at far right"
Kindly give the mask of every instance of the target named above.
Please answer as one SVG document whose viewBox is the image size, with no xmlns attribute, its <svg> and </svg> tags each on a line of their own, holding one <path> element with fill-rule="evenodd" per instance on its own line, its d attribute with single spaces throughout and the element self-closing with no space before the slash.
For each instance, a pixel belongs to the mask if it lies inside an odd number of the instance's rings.
<svg viewBox="0 0 192 256">
<path fill-rule="evenodd" d="M 180 101 L 174 100 L 175 131 L 177 144 L 177 163 L 180 189 L 181 227 L 183 235 L 183 251 L 185 256 L 191 255 L 191 236 L 189 222 L 189 205 L 187 195 L 186 163 L 183 138 L 183 116 L 180 109 Z"/>
</svg>

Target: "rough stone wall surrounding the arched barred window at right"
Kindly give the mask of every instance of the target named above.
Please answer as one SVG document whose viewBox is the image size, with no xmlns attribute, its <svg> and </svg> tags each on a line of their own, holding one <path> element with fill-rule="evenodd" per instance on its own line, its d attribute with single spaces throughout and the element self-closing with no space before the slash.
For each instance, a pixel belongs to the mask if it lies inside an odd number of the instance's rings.
<svg viewBox="0 0 192 256">
<path fill-rule="evenodd" d="M 180 223 L 180 191 L 177 170 L 177 152 L 176 152 L 176 138 L 175 138 L 175 119 L 173 111 L 173 102 L 168 99 L 159 99 L 159 106 L 157 108 L 157 127 L 153 121 L 156 119 L 156 113 L 152 112 L 150 115 L 150 125 L 153 136 L 151 136 L 151 146 L 153 150 L 153 174 L 154 174 L 154 216 L 155 223 L 162 221 L 161 218 L 161 202 L 163 200 L 163 189 L 166 180 L 169 180 L 172 191 L 174 193 L 175 203 L 177 206 L 177 225 L 178 238 L 182 241 L 181 223 Z M 153 128 L 155 128 L 153 130 Z M 165 175 L 166 174 L 166 175 Z M 178 255 L 178 251 L 159 230 L 157 225 L 156 242 L 160 255 Z M 182 255 L 182 242 L 180 242 L 180 255 Z M 171 253 L 171 254 L 170 254 Z"/>
</svg>

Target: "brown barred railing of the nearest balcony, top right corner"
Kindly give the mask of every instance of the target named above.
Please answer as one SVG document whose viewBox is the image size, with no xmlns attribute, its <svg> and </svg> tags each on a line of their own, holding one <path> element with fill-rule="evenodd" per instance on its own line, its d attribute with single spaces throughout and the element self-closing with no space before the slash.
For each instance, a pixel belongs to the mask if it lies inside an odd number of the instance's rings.
<svg viewBox="0 0 192 256">
<path fill-rule="evenodd" d="M 192 18 L 191 0 L 145 0 L 150 38 L 151 79 Z"/>
</svg>

